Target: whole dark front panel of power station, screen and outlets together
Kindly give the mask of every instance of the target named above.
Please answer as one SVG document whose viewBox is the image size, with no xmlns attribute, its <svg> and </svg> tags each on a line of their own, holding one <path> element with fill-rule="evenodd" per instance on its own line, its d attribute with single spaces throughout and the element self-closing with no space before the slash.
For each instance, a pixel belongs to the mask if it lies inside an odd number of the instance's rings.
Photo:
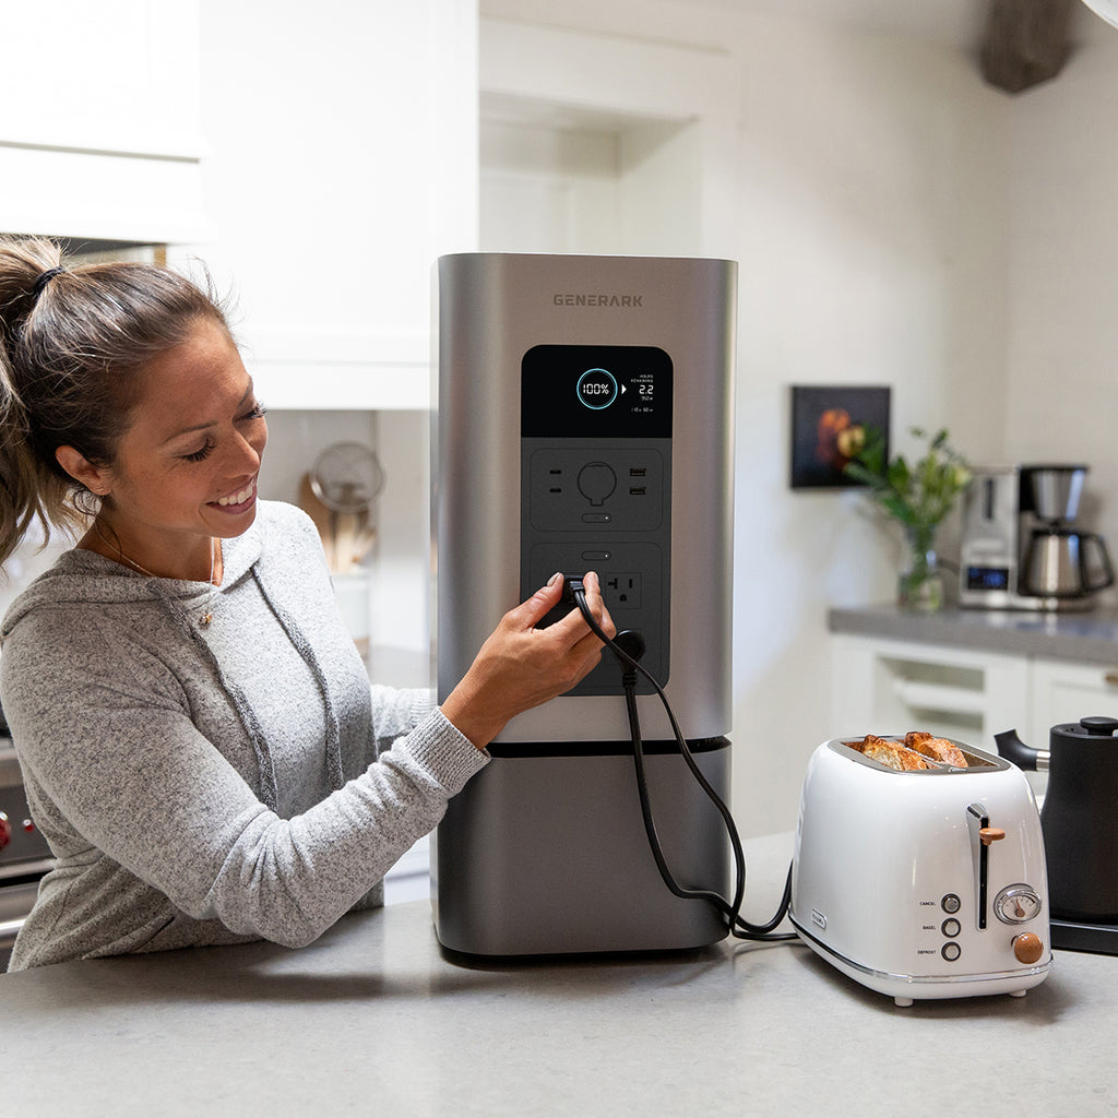
<svg viewBox="0 0 1118 1118">
<path fill-rule="evenodd" d="M 644 666 L 670 674 L 672 361 L 652 345 L 534 345 L 521 362 L 521 597 L 597 572 Z M 546 624 L 553 617 L 546 618 Z M 638 692 L 653 688 L 643 678 Z M 619 694 L 610 655 L 570 694 Z"/>
</svg>

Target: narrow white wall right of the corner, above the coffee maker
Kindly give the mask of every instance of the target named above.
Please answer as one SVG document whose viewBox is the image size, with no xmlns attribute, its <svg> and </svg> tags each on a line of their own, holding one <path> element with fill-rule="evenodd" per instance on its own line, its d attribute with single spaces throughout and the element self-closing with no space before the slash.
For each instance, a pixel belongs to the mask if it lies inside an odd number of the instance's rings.
<svg viewBox="0 0 1118 1118">
<path fill-rule="evenodd" d="M 1014 103 L 1005 444 L 1015 458 L 1087 463 L 1081 520 L 1112 548 L 1118 30 L 1089 13 L 1083 30 L 1059 80 Z"/>
</svg>

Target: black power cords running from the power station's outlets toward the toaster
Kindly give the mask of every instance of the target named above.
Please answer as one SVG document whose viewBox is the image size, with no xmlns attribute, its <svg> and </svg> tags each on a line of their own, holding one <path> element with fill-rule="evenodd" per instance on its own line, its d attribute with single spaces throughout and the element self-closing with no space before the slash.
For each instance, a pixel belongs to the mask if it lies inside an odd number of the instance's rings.
<svg viewBox="0 0 1118 1118">
<path fill-rule="evenodd" d="M 618 633 L 614 638 L 607 636 L 605 631 L 595 619 L 594 614 L 590 613 L 590 607 L 586 603 L 586 588 L 580 578 L 568 577 L 563 587 L 563 594 L 565 597 L 569 598 L 576 606 L 578 606 L 579 612 L 586 620 L 586 624 L 589 625 L 594 635 L 601 641 L 603 644 L 605 644 L 606 647 L 609 648 L 609 651 L 620 662 L 623 669 L 622 686 L 625 691 L 625 709 L 628 713 L 629 732 L 633 738 L 633 761 L 636 766 L 636 783 L 637 794 L 641 798 L 641 814 L 644 818 L 645 833 L 648 836 L 648 846 L 652 850 L 652 856 L 656 862 L 656 869 L 660 871 L 660 875 L 663 879 L 664 884 L 671 890 L 672 893 L 676 897 L 683 898 L 684 900 L 701 900 L 713 904 L 726 919 L 727 928 L 730 935 L 737 937 L 738 939 L 796 939 L 797 936 L 795 932 L 774 934 L 773 930 L 785 918 L 788 912 L 788 906 L 792 902 L 790 865 L 788 866 L 788 877 L 784 884 L 784 896 L 780 898 L 780 904 L 775 916 L 773 916 L 770 920 L 766 920 L 765 923 L 760 925 L 750 923 L 745 919 L 745 917 L 741 916 L 741 902 L 746 892 L 746 855 L 741 847 L 741 837 L 738 834 L 738 828 L 733 822 L 733 816 L 730 814 L 730 809 L 726 806 L 718 793 L 711 787 L 710 781 L 705 776 L 703 776 L 702 770 L 699 768 L 699 765 L 692 756 L 691 748 L 688 746 L 686 740 L 680 730 L 679 723 L 675 721 L 675 714 L 672 711 L 671 703 L 667 701 L 667 695 L 664 694 L 664 689 L 653 678 L 652 673 L 639 663 L 641 657 L 644 655 L 644 638 L 639 633 L 636 633 L 633 629 L 626 629 Z M 628 645 L 628 647 L 625 647 L 626 645 Z M 726 825 L 726 832 L 730 839 L 730 846 L 733 851 L 735 862 L 736 884 L 732 901 L 728 901 L 721 893 L 712 890 L 686 889 L 675 880 L 667 865 L 667 860 L 664 856 L 664 850 L 660 842 L 660 835 L 656 833 L 656 823 L 653 818 L 652 803 L 648 797 L 648 781 L 644 766 L 644 742 L 641 737 L 641 719 L 637 713 L 636 705 L 637 673 L 643 675 L 645 680 L 652 684 L 653 690 L 659 695 L 664 711 L 667 714 L 667 720 L 671 723 L 672 733 L 675 737 L 675 743 L 679 748 L 680 756 L 691 770 L 691 775 L 695 778 L 700 788 L 702 788 L 703 793 L 718 809 L 718 813 L 721 815 L 722 822 Z"/>
</svg>

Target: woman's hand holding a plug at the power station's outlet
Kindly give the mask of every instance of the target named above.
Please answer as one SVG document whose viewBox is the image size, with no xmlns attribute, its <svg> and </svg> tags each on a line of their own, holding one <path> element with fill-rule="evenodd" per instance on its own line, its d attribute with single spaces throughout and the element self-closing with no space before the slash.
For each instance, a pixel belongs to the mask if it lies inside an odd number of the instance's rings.
<svg viewBox="0 0 1118 1118">
<path fill-rule="evenodd" d="M 590 571 L 584 586 L 594 619 L 612 637 L 614 623 L 601 600 L 598 576 Z M 577 606 L 555 625 L 536 627 L 562 600 L 562 576 L 555 575 L 510 609 L 443 702 L 443 713 L 479 749 L 515 714 L 569 691 L 601 659 L 601 642 Z"/>
</svg>

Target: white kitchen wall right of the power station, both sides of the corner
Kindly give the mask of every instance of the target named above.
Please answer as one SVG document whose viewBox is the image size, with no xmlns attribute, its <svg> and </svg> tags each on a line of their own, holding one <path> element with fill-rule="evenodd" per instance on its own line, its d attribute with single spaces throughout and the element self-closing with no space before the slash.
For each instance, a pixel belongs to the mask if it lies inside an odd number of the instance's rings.
<svg viewBox="0 0 1118 1118">
<path fill-rule="evenodd" d="M 735 736 L 748 831 L 790 825 L 812 746 L 861 729 L 826 718 L 824 614 L 887 599 L 893 576 L 896 536 L 856 495 L 784 490 L 783 385 L 891 383 L 898 434 L 946 424 L 974 462 L 1087 462 L 1083 517 L 1118 540 L 1118 31 L 1086 11 L 1073 27 L 1064 73 L 1017 96 L 930 45 L 789 23 L 741 48 Z"/>
</svg>

